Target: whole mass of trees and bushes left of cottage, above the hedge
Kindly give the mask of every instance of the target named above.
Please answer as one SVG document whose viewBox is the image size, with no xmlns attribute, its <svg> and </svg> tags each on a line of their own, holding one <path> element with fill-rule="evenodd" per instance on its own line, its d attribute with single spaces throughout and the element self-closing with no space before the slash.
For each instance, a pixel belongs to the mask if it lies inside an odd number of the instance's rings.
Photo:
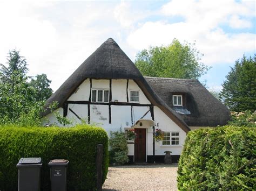
<svg viewBox="0 0 256 191">
<path fill-rule="evenodd" d="M 16 49 L 9 51 L 8 66 L 0 69 L 0 124 L 40 125 L 39 113 L 50 96 L 45 74 L 29 82 L 26 59 Z"/>
</svg>

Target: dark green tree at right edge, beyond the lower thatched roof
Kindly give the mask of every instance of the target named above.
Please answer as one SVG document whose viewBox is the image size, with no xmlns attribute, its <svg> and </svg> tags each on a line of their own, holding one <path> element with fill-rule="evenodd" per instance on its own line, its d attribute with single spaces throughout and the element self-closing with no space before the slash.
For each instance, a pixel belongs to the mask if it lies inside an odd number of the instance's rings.
<svg viewBox="0 0 256 191">
<path fill-rule="evenodd" d="M 243 56 L 227 74 L 220 92 L 221 100 L 231 111 L 256 109 L 256 54 Z"/>
</svg>

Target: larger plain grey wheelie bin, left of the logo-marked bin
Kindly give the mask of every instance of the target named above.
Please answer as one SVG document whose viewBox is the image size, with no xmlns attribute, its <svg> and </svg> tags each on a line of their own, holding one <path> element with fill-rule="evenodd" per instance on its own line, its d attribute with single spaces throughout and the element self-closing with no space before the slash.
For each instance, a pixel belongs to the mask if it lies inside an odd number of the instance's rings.
<svg viewBox="0 0 256 191">
<path fill-rule="evenodd" d="M 41 158 L 21 158 L 18 164 L 18 190 L 40 190 Z"/>
</svg>

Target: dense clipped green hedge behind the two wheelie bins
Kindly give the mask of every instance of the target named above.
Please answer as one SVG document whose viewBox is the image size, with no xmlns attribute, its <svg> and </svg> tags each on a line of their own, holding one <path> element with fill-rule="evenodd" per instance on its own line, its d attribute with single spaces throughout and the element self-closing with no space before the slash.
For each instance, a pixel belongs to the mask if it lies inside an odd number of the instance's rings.
<svg viewBox="0 0 256 191">
<path fill-rule="evenodd" d="M 0 126 L 0 190 L 17 190 L 22 157 L 42 157 L 42 190 L 50 190 L 48 162 L 68 159 L 68 190 L 96 189 L 96 147 L 104 145 L 103 182 L 109 164 L 108 138 L 102 128 L 17 128 Z"/>
</svg>

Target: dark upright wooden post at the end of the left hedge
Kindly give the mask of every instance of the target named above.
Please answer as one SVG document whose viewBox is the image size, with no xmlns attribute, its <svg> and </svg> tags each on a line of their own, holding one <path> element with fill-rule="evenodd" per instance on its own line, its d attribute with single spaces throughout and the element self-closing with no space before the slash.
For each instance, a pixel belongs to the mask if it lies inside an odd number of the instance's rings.
<svg viewBox="0 0 256 191">
<path fill-rule="evenodd" d="M 103 145 L 97 145 L 96 171 L 97 171 L 97 190 L 102 190 L 102 163 L 103 163 Z"/>
</svg>

